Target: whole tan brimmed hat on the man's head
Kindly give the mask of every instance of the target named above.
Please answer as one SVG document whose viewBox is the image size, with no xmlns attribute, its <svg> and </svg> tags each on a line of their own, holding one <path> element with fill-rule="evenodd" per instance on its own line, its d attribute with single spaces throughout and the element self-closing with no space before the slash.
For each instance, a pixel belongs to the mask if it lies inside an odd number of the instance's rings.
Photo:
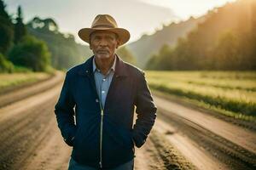
<svg viewBox="0 0 256 170">
<path fill-rule="evenodd" d="M 116 21 L 109 14 L 98 14 L 93 20 L 90 28 L 82 28 L 79 30 L 79 37 L 84 42 L 90 43 L 90 34 L 93 31 L 112 31 L 119 36 L 119 45 L 128 42 L 130 39 L 130 32 L 124 28 L 119 28 Z"/>
</svg>

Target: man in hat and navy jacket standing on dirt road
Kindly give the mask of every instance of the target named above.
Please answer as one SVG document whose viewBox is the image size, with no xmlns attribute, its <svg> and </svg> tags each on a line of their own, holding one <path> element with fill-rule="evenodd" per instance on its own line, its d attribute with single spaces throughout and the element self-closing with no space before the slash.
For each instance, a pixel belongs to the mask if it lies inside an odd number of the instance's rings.
<svg viewBox="0 0 256 170">
<path fill-rule="evenodd" d="M 61 135 L 73 146 L 69 169 L 131 170 L 134 145 L 145 143 L 156 106 L 143 71 L 115 54 L 130 33 L 112 16 L 99 14 L 79 37 L 90 44 L 94 55 L 67 71 L 55 105 Z M 132 127 L 135 106 L 137 120 Z"/>
</svg>

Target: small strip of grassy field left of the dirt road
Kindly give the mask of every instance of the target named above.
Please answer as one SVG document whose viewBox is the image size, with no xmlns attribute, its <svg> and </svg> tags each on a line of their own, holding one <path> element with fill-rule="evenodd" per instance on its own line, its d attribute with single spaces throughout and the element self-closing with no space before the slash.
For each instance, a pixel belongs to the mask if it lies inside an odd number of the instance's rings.
<svg viewBox="0 0 256 170">
<path fill-rule="evenodd" d="M 45 72 L 28 72 L 28 73 L 2 73 L 0 74 L 0 93 L 9 88 L 16 88 L 33 82 L 38 82 L 50 77 Z"/>
</svg>

